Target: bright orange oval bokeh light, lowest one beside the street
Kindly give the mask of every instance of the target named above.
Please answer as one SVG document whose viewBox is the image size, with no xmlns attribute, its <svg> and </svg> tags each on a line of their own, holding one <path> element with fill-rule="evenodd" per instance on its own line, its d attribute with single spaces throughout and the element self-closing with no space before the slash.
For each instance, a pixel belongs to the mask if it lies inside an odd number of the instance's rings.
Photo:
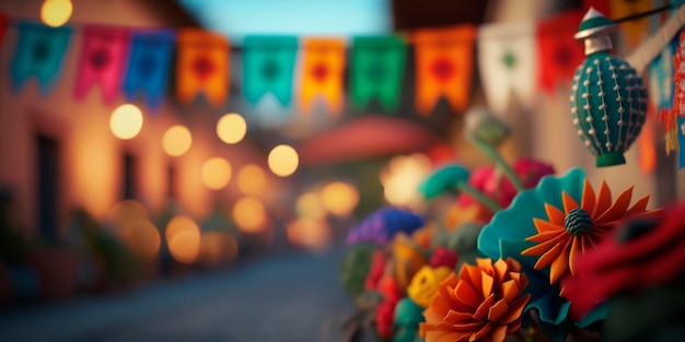
<svg viewBox="0 0 685 342">
<path fill-rule="evenodd" d="M 178 215 L 172 217 L 165 232 L 169 252 L 181 263 L 193 263 L 200 253 L 200 229 L 193 219 Z"/>
</svg>

